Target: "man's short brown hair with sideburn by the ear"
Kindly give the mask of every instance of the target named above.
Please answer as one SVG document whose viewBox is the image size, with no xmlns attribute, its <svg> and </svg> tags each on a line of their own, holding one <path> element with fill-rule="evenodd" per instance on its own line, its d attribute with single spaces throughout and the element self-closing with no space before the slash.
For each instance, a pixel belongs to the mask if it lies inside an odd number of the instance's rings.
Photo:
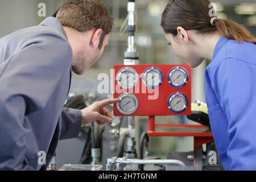
<svg viewBox="0 0 256 182">
<path fill-rule="evenodd" d="M 60 7 L 56 18 L 63 26 L 80 32 L 101 28 L 103 32 L 98 49 L 101 49 L 105 36 L 113 28 L 113 17 L 100 0 L 69 0 Z"/>
</svg>

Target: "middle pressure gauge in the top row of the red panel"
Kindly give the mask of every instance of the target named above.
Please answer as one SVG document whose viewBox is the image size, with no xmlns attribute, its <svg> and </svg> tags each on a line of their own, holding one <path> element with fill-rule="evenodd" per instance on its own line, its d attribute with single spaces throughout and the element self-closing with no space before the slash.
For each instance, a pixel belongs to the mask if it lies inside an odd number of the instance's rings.
<svg viewBox="0 0 256 182">
<path fill-rule="evenodd" d="M 150 67 L 144 71 L 142 80 L 146 86 L 154 89 L 163 83 L 163 73 L 159 68 Z"/>
</svg>

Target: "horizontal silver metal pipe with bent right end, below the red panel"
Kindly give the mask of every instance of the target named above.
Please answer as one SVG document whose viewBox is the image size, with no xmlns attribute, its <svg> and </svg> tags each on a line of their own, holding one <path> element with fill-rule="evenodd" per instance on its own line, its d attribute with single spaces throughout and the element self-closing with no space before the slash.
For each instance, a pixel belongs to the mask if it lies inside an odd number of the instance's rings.
<svg viewBox="0 0 256 182">
<path fill-rule="evenodd" d="M 117 159 L 115 163 L 121 164 L 176 164 L 182 168 L 183 171 L 186 170 L 185 164 L 180 160 L 172 159 L 154 159 L 154 160 L 142 160 L 142 159 Z"/>
</svg>

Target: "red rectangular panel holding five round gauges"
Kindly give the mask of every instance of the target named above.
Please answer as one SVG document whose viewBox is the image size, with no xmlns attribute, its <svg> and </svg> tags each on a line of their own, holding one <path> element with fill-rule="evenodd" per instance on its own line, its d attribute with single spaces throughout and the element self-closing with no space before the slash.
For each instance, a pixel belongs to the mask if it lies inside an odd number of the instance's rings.
<svg viewBox="0 0 256 182">
<path fill-rule="evenodd" d="M 176 72 L 176 70 L 180 70 L 181 72 Z M 138 74 L 138 76 L 127 77 L 127 82 L 129 82 L 130 84 L 127 84 L 126 86 L 122 85 L 122 82 L 120 81 L 122 79 L 119 79 L 118 77 L 118 75 L 120 76 L 120 72 L 130 74 L 134 71 Z M 154 84 L 148 84 L 146 86 L 147 82 L 150 81 L 150 78 L 147 78 L 147 75 L 145 74 L 149 72 L 154 73 L 154 71 L 156 73 L 159 73 L 158 79 L 161 79 L 161 81 L 156 86 L 152 86 Z M 181 86 L 175 86 L 177 84 L 177 79 L 181 79 L 182 81 L 183 77 L 185 76 L 182 75 L 182 73 L 185 73 L 187 75 L 187 81 L 184 84 L 181 83 Z M 173 78 L 170 78 L 170 75 Z M 152 79 L 156 78 L 152 76 Z M 174 83 L 172 83 L 171 81 L 173 81 Z M 157 80 L 155 80 L 154 82 L 157 82 Z M 127 93 L 130 94 L 130 96 L 132 97 L 127 98 L 126 104 L 123 103 L 119 105 L 114 105 L 114 115 L 190 115 L 191 68 L 188 65 L 115 65 L 114 98 L 126 96 Z M 172 96 L 175 96 L 176 93 L 176 100 L 172 100 L 174 104 L 172 104 L 172 102 L 170 104 L 170 98 L 172 98 Z M 136 98 L 136 102 L 134 101 L 134 97 Z M 183 108 L 183 110 L 181 111 L 177 111 L 179 110 L 178 105 L 180 105 L 181 103 L 183 104 L 184 98 L 187 99 L 187 107 L 185 107 L 185 109 Z M 134 102 L 133 104 L 137 104 L 137 106 L 134 107 L 134 111 L 127 112 L 128 114 L 124 114 L 125 112 L 120 111 L 120 106 L 122 105 L 126 109 L 133 109 L 131 108 L 132 106 L 129 106 L 131 102 Z"/>
</svg>

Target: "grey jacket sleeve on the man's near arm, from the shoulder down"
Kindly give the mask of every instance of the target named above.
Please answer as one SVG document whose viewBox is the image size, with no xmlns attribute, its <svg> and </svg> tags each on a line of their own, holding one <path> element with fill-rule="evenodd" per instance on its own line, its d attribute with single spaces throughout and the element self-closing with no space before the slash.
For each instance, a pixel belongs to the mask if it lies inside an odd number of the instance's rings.
<svg viewBox="0 0 256 182">
<path fill-rule="evenodd" d="M 30 133 L 25 117 L 47 105 L 71 60 L 64 36 L 42 31 L 0 65 L 0 169 L 31 169 L 25 156 L 24 137 Z"/>
</svg>

